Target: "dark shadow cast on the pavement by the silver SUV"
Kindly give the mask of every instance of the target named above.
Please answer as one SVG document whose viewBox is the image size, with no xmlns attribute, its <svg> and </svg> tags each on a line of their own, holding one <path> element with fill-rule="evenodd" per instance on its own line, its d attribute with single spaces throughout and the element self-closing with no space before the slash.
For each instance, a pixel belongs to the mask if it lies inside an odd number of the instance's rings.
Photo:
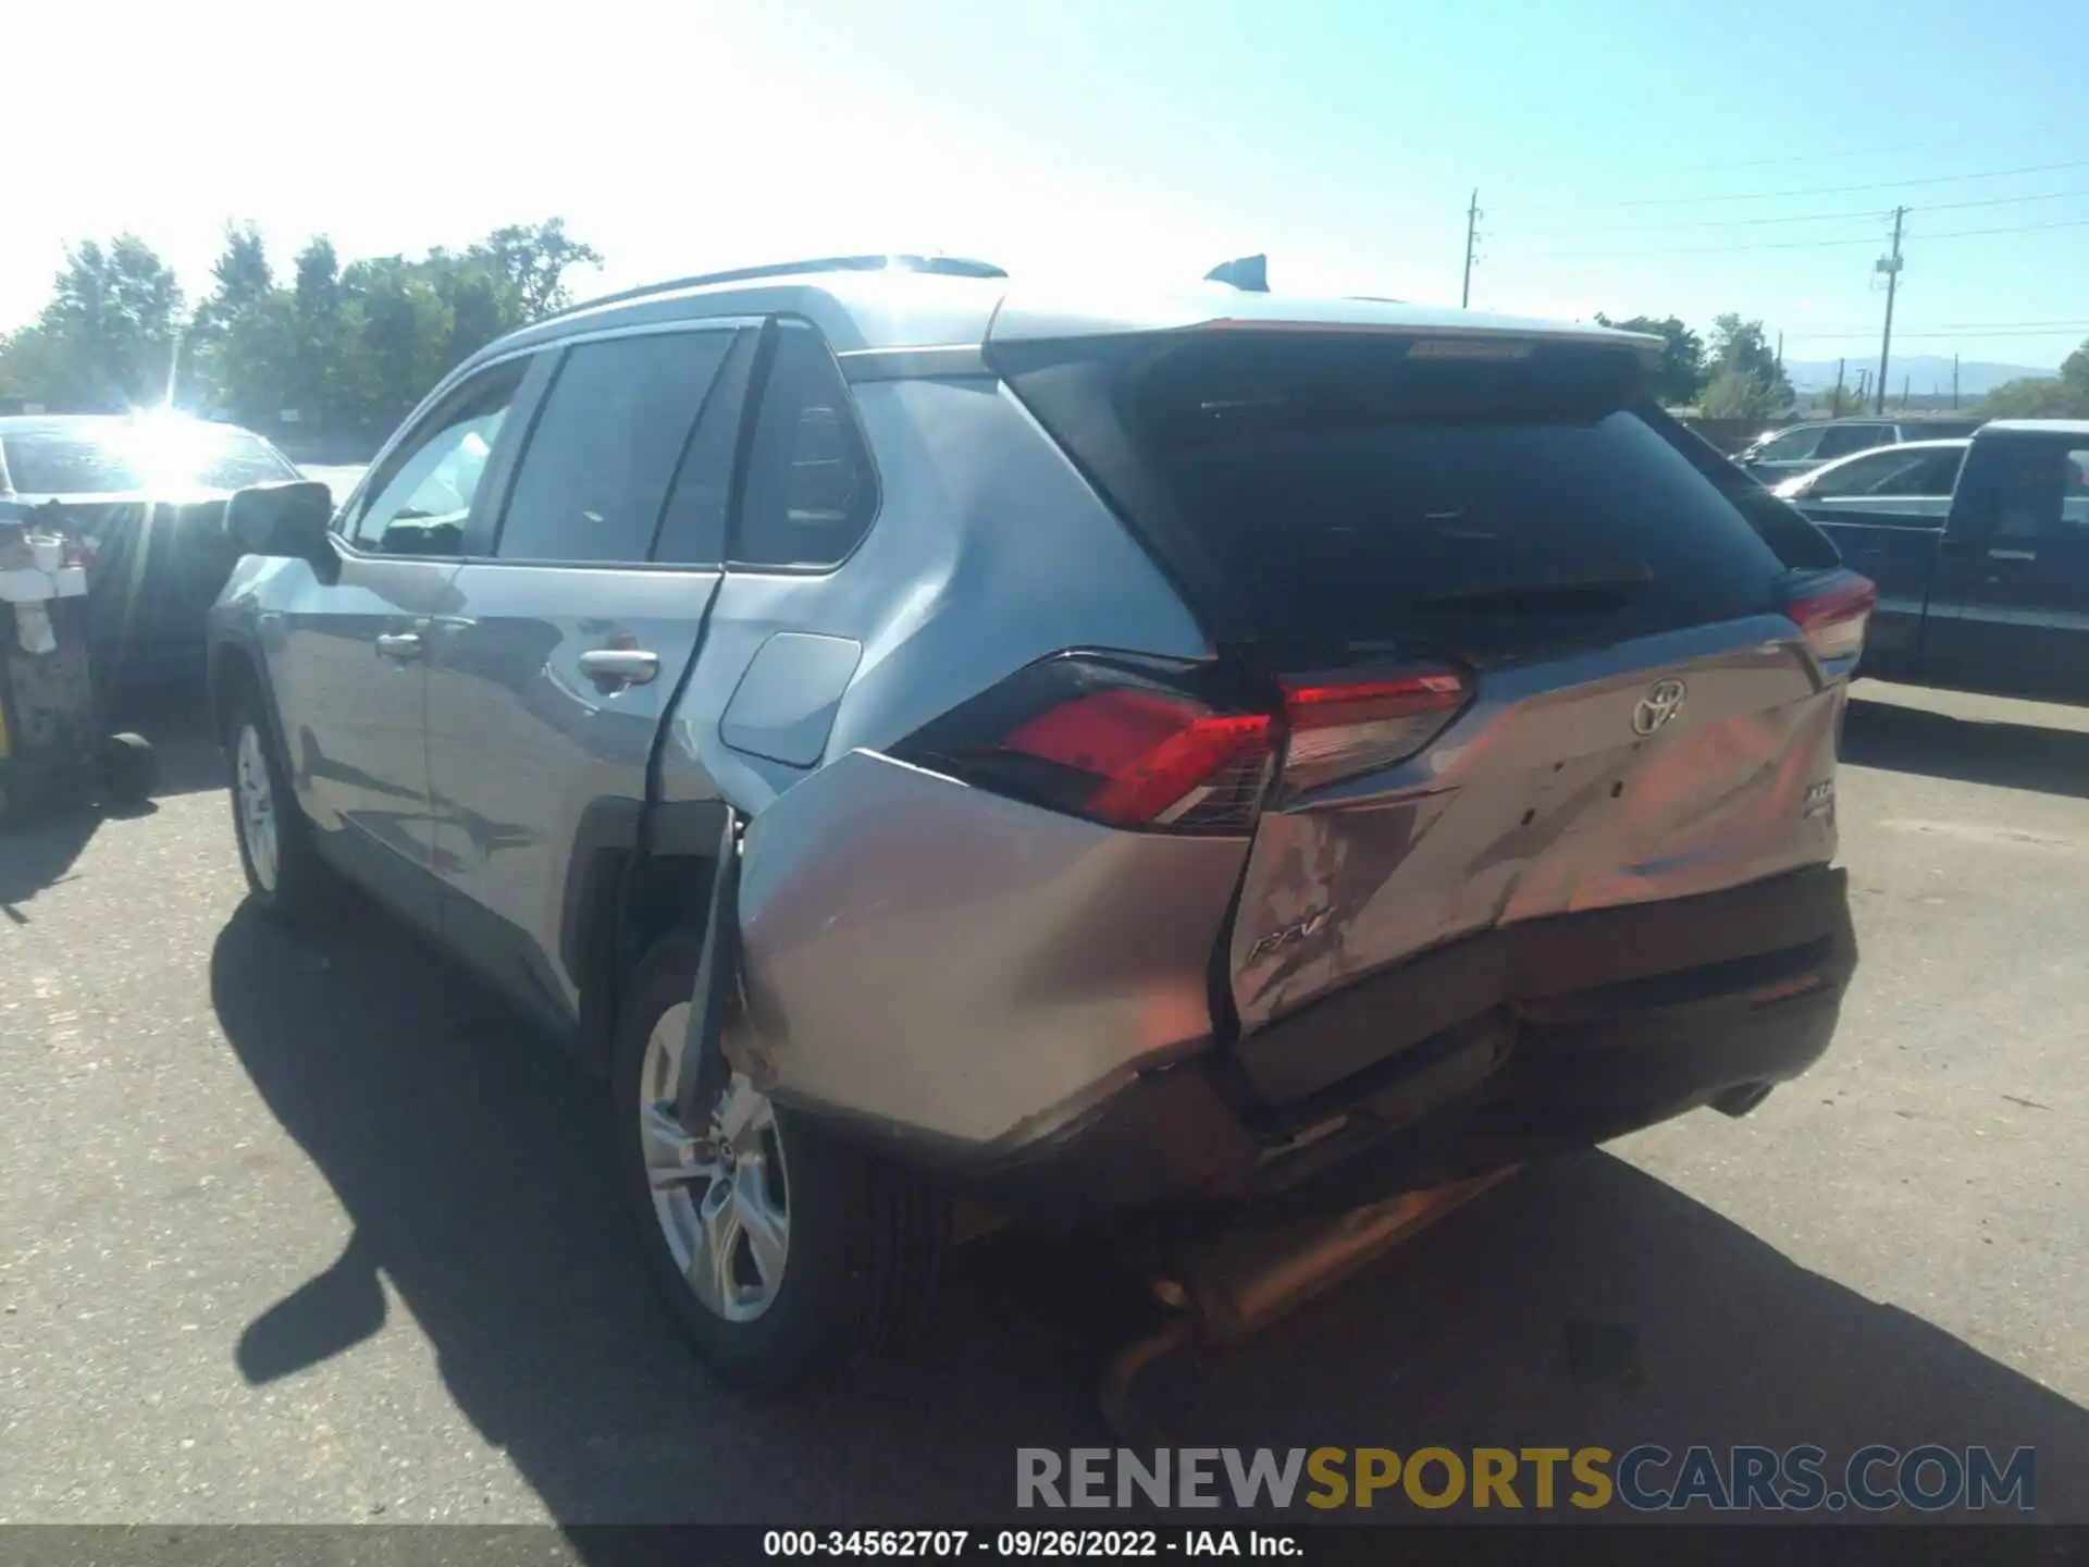
<svg viewBox="0 0 2089 1567">
<path fill-rule="evenodd" d="M 412 936 L 357 919 L 322 946 L 242 909 L 211 986 L 353 1224 L 244 1329 L 257 1396 L 378 1333 L 382 1274 L 568 1525 L 984 1521 L 1013 1508 L 1017 1446 L 1111 1442 L 1097 1383 L 1149 1320 L 1097 1252 L 988 1237 L 911 1358 L 740 1398 L 650 1295 L 597 1084 Z M 1193 1444 L 2033 1444 L 2049 1502 L 2089 1473 L 2064 1398 L 1600 1153 L 1521 1174 L 1268 1337 L 1157 1366 L 1147 1408 Z"/>
</svg>

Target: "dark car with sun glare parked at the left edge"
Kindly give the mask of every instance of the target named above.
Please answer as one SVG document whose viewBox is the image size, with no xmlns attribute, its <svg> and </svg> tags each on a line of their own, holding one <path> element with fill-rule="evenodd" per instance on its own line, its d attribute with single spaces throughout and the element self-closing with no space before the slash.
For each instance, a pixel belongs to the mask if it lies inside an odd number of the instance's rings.
<svg viewBox="0 0 2089 1567">
<path fill-rule="evenodd" d="M 196 681 L 203 621 L 232 570 L 226 497 L 297 478 L 251 430 L 192 418 L 0 418 L 0 495 L 61 501 L 92 541 L 88 652 L 117 683 Z"/>
</svg>

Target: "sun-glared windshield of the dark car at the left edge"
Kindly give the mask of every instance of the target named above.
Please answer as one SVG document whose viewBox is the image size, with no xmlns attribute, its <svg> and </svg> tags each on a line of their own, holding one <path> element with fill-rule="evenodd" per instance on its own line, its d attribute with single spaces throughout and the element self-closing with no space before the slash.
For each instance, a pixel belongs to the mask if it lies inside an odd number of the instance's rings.
<svg viewBox="0 0 2089 1567">
<path fill-rule="evenodd" d="M 261 437 L 211 426 L 138 426 L 92 435 L 33 430 L 0 435 L 0 451 L 21 495 L 232 491 L 297 478 L 297 470 Z"/>
</svg>

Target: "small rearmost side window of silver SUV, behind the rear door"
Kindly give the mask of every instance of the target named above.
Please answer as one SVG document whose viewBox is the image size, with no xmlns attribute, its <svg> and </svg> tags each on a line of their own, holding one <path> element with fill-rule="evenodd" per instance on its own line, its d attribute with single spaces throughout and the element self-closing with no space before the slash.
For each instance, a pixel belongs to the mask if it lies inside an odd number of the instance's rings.
<svg viewBox="0 0 2089 1567">
<path fill-rule="evenodd" d="M 779 322 L 748 455 L 735 566 L 840 564 L 877 516 L 877 474 L 842 368 L 819 332 Z"/>
</svg>

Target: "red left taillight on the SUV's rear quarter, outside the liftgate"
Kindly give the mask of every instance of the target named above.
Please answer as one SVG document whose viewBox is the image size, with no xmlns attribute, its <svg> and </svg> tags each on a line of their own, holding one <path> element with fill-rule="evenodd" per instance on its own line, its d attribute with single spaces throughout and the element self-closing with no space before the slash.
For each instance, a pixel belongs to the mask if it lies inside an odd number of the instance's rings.
<svg viewBox="0 0 2089 1567">
<path fill-rule="evenodd" d="M 894 756 L 1034 804 L 1155 832 L 1245 834 L 1274 719 L 1191 664 L 1063 654 L 894 746 Z"/>
</svg>

